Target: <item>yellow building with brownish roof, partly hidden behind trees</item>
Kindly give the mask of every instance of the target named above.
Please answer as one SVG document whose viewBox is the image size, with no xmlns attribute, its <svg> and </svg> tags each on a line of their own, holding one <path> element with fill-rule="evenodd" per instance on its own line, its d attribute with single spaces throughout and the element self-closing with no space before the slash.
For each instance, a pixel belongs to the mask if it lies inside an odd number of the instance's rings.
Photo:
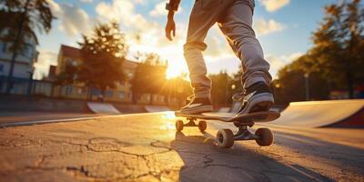
<svg viewBox="0 0 364 182">
<path fill-rule="evenodd" d="M 55 81 L 56 77 L 62 74 L 67 64 L 72 64 L 76 66 L 78 62 L 81 61 L 80 49 L 68 45 L 61 45 L 58 54 L 58 65 L 56 67 L 51 66 L 49 69 L 49 76 L 47 80 Z M 133 78 L 138 63 L 130 60 L 124 60 L 123 62 L 123 72 L 126 75 L 126 82 L 122 84 L 117 84 L 115 89 L 107 89 L 105 101 L 106 102 L 122 102 L 122 103 L 132 103 L 133 93 L 132 85 L 129 80 Z M 39 90 L 39 89 L 38 89 Z M 49 89 L 47 89 L 49 90 Z M 54 86 L 53 96 L 64 97 L 64 98 L 74 98 L 74 99 L 86 99 L 87 94 L 91 93 L 93 100 L 96 100 L 101 96 L 101 92 L 96 88 L 91 88 L 87 90 L 86 86 L 83 85 L 66 85 L 66 86 Z M 45 94 L 47 96 L 47 94 Z M 148 93 L 142 94 L 136 101 L 136 104 L 141 105 L 170 105 L 177 106 L 179 104 L 176 97 L 166 97 L 162 95 L 151 95 Z"/>
</svg>

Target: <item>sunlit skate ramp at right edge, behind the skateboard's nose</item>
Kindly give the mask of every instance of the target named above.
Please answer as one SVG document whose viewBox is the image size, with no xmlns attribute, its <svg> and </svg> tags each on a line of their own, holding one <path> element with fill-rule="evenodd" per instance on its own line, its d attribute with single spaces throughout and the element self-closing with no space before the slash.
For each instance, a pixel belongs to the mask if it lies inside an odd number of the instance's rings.
<svg viewBox="0 0 364 182">
<path fill-rule="evenodd" d="M 364 127 L 364 100 L 293 102 L 272 124 L 300 127 Z"/>
</svg>

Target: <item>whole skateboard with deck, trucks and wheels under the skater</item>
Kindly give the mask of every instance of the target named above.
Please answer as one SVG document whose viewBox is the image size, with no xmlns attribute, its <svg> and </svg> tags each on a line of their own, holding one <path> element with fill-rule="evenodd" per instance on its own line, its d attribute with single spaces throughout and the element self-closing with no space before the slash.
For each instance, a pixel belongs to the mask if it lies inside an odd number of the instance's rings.
<svg viewBox="0 0 364 182">
<path fill-rule="evenodd" d="M 218 120 L 222 122 L 234 123 L 238 127 L 238 132 L 234 135 L 230 129 L 220 129 L 217 132 L 216 143 L 218 147 L 229 148 L 234 145 L 235 140 L 255 140 L 259 146 L 270 146 L 273 143 L 273 133 L 270 129 L 258 128 L 253 134 L 248 127 L 254 126 L 258 122 L 270 122 L 277 119 L 280 114 L 277 111 L 266 111 L 250 113 L 242 116 L 235 116 L 233 113 L 202 113 L 197 115 L 187 115 L 175 112 L 176 116 L 186 117 L 188 123 L 182 120 L 176 121 L 176 130 L 182 131 L 185 126 L 197 126 L 201 132 L 207 129 L 205 120 Z M 198 124 L 196 121 L 198 120 Z"/>
</svg>

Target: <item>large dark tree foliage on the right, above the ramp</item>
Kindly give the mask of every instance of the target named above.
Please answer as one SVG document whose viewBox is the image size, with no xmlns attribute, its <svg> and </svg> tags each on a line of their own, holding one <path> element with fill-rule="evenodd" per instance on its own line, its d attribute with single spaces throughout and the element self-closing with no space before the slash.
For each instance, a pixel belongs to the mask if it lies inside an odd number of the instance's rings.
<svg viewBox="0 0 364 182">
<path fill-rule="evenodd" d="M 364 8 L 359 0 L 328 5 L 314 32 L 314 46 L 305 56 L 283 67 L 273 82 L 279 104 L 305 100 L 309 75 L 310 99 L 328 99 L 333 89 L 349 90 L 364 82 Z"/>
</svg>

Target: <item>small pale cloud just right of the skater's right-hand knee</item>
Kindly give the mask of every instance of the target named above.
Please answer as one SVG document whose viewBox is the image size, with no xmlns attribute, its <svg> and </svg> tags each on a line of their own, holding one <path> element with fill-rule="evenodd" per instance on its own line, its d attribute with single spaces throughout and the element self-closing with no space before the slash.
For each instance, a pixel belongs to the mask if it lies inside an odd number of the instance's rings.
<svg viewBox="0 0 364 182">
<path fill-rule="evenodd" d="M 258 19 L 254 22 L 254 30 L 257 35 L 268 35 L 285 29 L 285 26 L 274 19 Z"/>
</svg>

